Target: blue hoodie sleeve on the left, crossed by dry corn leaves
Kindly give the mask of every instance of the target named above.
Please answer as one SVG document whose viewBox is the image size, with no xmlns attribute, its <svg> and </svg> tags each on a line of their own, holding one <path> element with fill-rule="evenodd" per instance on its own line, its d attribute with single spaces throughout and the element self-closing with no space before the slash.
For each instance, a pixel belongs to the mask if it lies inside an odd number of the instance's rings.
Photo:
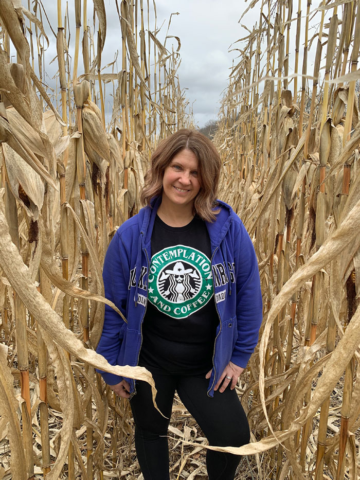
<svg viewBox="0 0 360 480">
<path fill-rule="evenodd" d="M 124 253 L 121 254 L 122 250 L 120 235 L 116 233 L 106 251 L 102 277 L 105 297 L 113 301 L 126 318 L 128 281 L 127 276 L 124 274 L 124 269 L 127 270 L 128 265 L 126 256 Z M 105 305 L 104 324 L 96 351 L 103 355 L 111 365 L 117 365 L 117 358 L 126 326 L 127 324 L 121 316 L 111 307 Z M 109 385 L 116 385 L 122 380 L 122 377 L 109 372 L 97 371 Z"/>
</svg>

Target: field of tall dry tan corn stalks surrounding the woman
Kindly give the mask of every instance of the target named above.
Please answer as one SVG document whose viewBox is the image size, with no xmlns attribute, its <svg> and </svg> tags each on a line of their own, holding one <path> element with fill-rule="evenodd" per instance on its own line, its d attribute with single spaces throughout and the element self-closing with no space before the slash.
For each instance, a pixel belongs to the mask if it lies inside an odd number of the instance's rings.
<svg viewBox="0 0 360 480">
<path fill-rule="evenodd" d="M 57 29 L 40 0 L 0 2 L 0 479 L 142 478 L 128 403 L 95 367 L 154 383 L 94 351 L 104 305 L 116 309 L 101 269 L 158 141 L 195 127 L 170 22 L 160 41 L 155 3 L 115 4 L 119 60 L 103 65 L 103 0 L 75 0 L 74 50 L 65 2 Z M 218 449 L 243 455 L 237 480 L 355 479 L 360 0 L 250 8 L 259 21 L 239 41 L 213 141 L 220 198 L 254 241 L 264 321 L 237 387 L 251 443 Z M 206 478 L 207 441 L 178 398 L 169 438 L 172 478 Z"/>
</svg>

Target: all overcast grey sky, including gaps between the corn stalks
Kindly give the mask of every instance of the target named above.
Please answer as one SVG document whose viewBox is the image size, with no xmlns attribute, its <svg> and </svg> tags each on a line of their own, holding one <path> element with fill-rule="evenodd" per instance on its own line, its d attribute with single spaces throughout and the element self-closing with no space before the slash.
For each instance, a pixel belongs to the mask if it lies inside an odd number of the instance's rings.
<svg viewBox="0 0 360 480">
<path fill-rule="evenodd" d="M 22 0 L 23 4 L 27 6 L 27 1 Z M 120 5 L 120 0 L 118 0 Z M 111 62 L 114 59 L 116 51 L 119 52 L 119 60 L 121 62 L 121 30 L 119 18 L 115 6 L 115 0 L 104 0 L 106 10 L 106 40 L 102 54 L 102 65 Z M 147 1 L 143 1 L 144 9 L 146 9 Z M 46 13 L 53 30 L 57 30 L 57 6 L 54 0 L 43 0 Z M 65 12 L 65 1 L 62 1 L 62 15 Z M 217 117 L 220 106 L 219 100 L 222 97 L 222 92 L 227 86 L 227 79 L 232 66 L 232 60 L 239 55 L 238 51 L 228 51 L 231 44 L 238 39 L 245 37 L 247 31 L 239 23 L 240 16 L 248 7 L 249 2 L 245 0 L 228 0 L 226 3 L 218 0 L 156 0 L 157 11 L 157 27 L 164 25 L 158 33 L 158 38 L 164 42 L 168 22 L 171 13 L 178 12 L 178 15 L 172 15 L 169 35 L 175 35 L 181 39 L 181 65 L 178 69 L 180 85 L 182 88 L 188 88 L 187 98 L 190 103 L 193 102 L 193 111 L 195 122 L 199 127 L 203 127 L 210 119 Z M 69 19 L 70 19 L 70 55 L 74 55 L 74 41 L 75 41 L 75 19 L 74 19 L 74 0 L 68 2 Z M 314 8 L 316 8 L 314 6 Z M 245 24 L 250 30 L 259 22 L 260 2 L 255 8 L 249 10 L 241 23 Z M 153 11 L 152 1 L 150 0 L 150 10 Z M 293 17 L 296 13 L 293 12 Z M 147 18 L 147 13 L 145 14 Z M 93 24 L 93 4 L 88 0 L 87 7 L 88 24 Z M 302 27 L 304 19 L 302 20 Z M 43 23 L 46 21 L 43 17 Z M 314 23 L 314 21 L 313 21 Z M 47 27 L 47 25 L 46 25 Z M 97 28 L 97 27 L 96 27 Z M 315 28 L 315 27 L 314 27 Z M 147 21 L 145 24 L 147 29 Z M 154 30 L 154 16 L 150 18 L 150 29 Z M 292 25 L 291 43 L 294 42 L 296 25 Z M 45 52 L 45 68 L 48 78 L 46 83 L 54 86 L 51 77 L 55 75 L 58 69 L 58 62 L 51 62 L 56 57 L 56 39 L 49 28 L 46 28 L 50 41 L 50 46 Z M 302 28 L 303 32 L 303 28 Z M 311 32 L 311 35 L 314 32 Z M 303 36 L 303 33 L 302 33 Z M 82 37 L 82 33 L 81 33 Z M 177 42 L 175 39 L 167 41 L 167 48 L 171 50 L 171 41 L 174 42 L 176 49 Z M 301 37 L 301 43 L 303 39 Z M 316 42 L 314 42 L 316 47 Z M 238 48 L 239 43 L 233 45 L 232 48 Z M 291 66 L 294 61 L 294 46 L 290 48 L 290 73 L 292 73 Z M 309 69 L 312 73 L 311 60 L 313 53 L 309 55 Z M 81 56 L 80 56 L 81 58 Z M 236 61 L 236 63 L 239 60 Z M 300 48 L 300 71 L 302 64 L 302 48 Z M 78 74 L 83 73 L 82 61 L 79 59 Z M 260 91 L 261 91 L 260 86 Z M 105 110 L 111 108 L 112 99 L 109 98 Z M 110 116 L 111 116 L 111 112 Z"/>
</svg>

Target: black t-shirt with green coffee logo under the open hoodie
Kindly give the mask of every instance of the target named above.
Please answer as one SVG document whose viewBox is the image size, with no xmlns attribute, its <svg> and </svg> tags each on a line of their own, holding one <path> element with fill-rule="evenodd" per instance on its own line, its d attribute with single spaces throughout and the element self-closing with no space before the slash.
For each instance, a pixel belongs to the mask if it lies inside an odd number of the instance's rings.
<svg viewBox="0 0 360 480">
<path fill-rule="evenodd" d="M 208 371 L 219 316 L 205 222 L 195 216 L 171 227 L 156 216 L 151 253 L 139 364 L 179 375 Z"/>
</svg>

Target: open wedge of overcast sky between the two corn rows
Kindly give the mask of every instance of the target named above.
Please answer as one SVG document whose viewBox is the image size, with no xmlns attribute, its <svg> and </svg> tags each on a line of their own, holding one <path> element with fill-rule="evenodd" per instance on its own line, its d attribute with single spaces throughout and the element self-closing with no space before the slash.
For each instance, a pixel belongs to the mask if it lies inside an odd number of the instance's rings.
<svg viewBox="0 0 360 480">
<path fill-rule="evenodd" d="M 246 31 L 238 21 L 248 3 L 244 0 L 157 0 L 158 21 L 169 18 L 172 34 L 181 38 L 182 63 L 179 78 L 187 87 L 188 99 L 194 102 L 195 121 L 199 127 L 217 117 L 219 100 L 227 86 L 232 59 L 238 52 L 228 52 L 231 43 L 244 37 Z M 246 19 L 255 24 L 258 10 Z M 257 19 L 258 20 L 258 19 Z"/>
</svg>

